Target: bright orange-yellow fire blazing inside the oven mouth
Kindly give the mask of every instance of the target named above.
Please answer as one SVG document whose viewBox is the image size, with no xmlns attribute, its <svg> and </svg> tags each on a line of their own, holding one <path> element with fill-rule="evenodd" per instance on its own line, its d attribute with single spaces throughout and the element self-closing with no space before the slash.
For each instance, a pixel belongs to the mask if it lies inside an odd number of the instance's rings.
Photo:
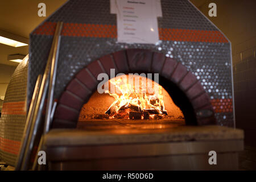
<svg viewBox="0 0 256 182">
<path fill-rule="evenodd" d="M 110 79 L 109 85 L 110 89 L 106 92 L 115 99 L 106 111 L 110 118 L 132 119 L 132 114 L 135 114 L 134 119 L 150 119 L 156 114 L 167 114 L 164 110 L 162 86 L 150 78 L 122 75 Z"/>
</svg>

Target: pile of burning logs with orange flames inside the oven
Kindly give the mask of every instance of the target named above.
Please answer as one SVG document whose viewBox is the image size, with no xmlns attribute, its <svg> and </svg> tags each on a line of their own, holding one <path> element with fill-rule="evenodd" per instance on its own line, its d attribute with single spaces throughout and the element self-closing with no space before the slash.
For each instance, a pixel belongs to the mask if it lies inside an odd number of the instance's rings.
<svg viewBox="0 0 256 182">
<path fill-rule="evenodd" d="M 128 115 L 130 119 L 150 119 L 154 115 L 167 115 L 167 111 L 164 110 L 162 88 L 154 88 L 158 89 L 158 92 L 155 92 L 156 90 L 153 93 L 142 92 L 147 88 L 147 82 L 142 80 L 139 83 L 140 85 L 134 85 L 130 82 L 123 82 L 121 77 L 110 80 L 110 84 L 117 86 L 121 92 L 108 92 L 110 96 L 115 98 L 115 101 L 105 112 L 105 114 L 109 114 L 109 118 L 122 119 L 127 118 Z M 138 92 L 140 89 L 141 92 Z M 159 119 L 160 116 L 156 118 Z"/>
</svg>

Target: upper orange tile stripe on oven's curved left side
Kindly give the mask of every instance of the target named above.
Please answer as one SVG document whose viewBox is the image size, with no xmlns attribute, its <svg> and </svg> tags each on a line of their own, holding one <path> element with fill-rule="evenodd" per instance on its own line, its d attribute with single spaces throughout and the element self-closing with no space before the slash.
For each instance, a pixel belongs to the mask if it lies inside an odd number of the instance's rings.
<svg viewBox="0 0 256 182">
<path fill-rule="evenodd" d="M 5 102 L 2 107 L 2 114 L 26 115 L 25 102 Z"/>
</svg>

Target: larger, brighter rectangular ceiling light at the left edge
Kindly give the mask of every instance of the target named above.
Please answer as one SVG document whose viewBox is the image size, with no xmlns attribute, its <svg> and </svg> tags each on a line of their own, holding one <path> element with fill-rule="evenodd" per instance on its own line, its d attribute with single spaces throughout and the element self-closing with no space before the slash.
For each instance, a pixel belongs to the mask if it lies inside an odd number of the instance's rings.
<svg viewBox="0 0 256 182">
<path fill-rule="evenodd" d="M 0 43 L 13 47 L 28 46 L 28 39 L 0 30 Z"/>
</svg>

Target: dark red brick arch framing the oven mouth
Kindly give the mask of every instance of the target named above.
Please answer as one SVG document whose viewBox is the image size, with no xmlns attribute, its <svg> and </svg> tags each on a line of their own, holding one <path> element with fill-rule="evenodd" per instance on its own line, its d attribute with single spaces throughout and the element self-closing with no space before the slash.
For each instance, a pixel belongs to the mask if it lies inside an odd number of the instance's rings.
<svg viewBox="0 0 256 182">
<path fill-rule="evenodd" d="M 197 125 L 215 124 L 208 94 L 192 72 L 176 60 L 147 49 L 127 49 L 103 56 L 83 68 L 61 94 L 56 107 L 53 128 L 76 127 L 82 105 L 97 88 L 97 76 L 115 69 L 115 74 L 129 72 L 159 73 L 174 83 L 191 102 Z"/>
</svg>

